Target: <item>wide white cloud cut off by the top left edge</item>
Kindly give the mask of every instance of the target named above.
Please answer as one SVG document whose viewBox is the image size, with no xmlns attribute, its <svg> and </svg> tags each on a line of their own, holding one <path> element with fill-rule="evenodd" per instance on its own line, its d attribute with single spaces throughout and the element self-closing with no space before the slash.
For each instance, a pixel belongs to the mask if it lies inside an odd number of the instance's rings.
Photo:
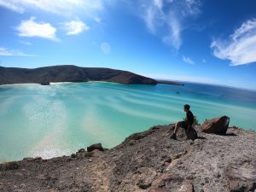
<svg viewBox="0 0 256 192">
<path fill-rule="evenodd" d="M 26 9 L 39 9 L 57 15 L 89 14 L 102 9 L 102 0 L 0 0 L 0 6 L 23 13 Z"/>
</svg>

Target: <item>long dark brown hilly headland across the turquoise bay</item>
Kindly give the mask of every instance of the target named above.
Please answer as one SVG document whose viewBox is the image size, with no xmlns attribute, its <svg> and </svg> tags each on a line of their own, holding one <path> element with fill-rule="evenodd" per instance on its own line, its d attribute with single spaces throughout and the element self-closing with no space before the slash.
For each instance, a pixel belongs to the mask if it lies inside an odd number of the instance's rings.
<svg viewBox="0 0 256 192">
<path fill-rule="evenodd" d="M 110 68 L 53 66 L 34 69 L 0 67 L 0 84 L 107 81 L 120 84 L 157 84 L 135 73 Z"/>
</svg>

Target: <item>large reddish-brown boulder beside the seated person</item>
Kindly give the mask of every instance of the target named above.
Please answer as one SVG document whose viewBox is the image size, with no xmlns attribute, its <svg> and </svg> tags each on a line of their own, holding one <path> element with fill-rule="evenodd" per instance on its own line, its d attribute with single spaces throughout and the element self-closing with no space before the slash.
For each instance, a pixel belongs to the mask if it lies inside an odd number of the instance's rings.
<svg viewBox="0 0 256 192">
<path fill-rule="evenodd" d="M 201 131 L 205 133 L 214 133 L 218 135 L 225 135 L 230 123 L 230 118 L 222 116 L 219 118 L 208 119 L 201 125 Z"/>
</svg>

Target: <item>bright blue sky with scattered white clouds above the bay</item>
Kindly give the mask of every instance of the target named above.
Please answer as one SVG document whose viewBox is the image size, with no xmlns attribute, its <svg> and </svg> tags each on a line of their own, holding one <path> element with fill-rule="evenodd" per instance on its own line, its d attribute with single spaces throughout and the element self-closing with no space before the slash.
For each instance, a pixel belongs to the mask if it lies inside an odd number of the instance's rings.
<svg viewBox="0 0 256 192">
<path fill-rule="evenodd" d="M 256 0 L 0 0 L 0 61 L 256 90 L 255 10 Z"/>
</svg>

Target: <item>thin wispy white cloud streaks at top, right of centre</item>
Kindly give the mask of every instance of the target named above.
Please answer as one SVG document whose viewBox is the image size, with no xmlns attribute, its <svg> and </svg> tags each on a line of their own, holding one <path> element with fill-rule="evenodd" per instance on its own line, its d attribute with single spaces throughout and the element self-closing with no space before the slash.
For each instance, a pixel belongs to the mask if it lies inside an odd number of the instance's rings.
<svg viewBox="0 0 256 192">
<path fill-rule="evenodd" d="M 140 13 L 149 32 L 174 49 L 182 45 L 181 33 L 186 28 L 186 21 L 201 12 L 200 0 L 138 0 L 130 4 L 131 8 L 138 8 L 135 12 Z"/>
</svg>

